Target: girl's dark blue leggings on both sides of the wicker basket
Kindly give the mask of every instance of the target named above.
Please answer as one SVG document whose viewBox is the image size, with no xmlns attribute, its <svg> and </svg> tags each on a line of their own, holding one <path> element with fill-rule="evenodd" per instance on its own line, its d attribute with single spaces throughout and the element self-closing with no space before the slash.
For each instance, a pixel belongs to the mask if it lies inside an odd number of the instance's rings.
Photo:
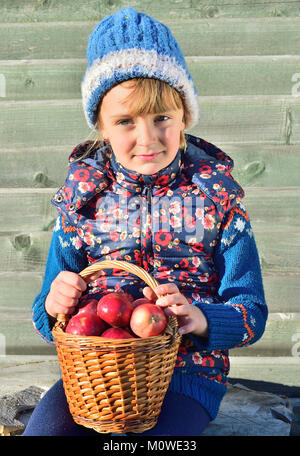
<svg viewBox="0 0 300 456">
<path fill-rule="evenodd" d="M 156 426 L 142 434 L 199 436 L 210 422 L 206 410 L 193 399 L 167 391 Z M 69 412 L 62 380 L 56 382 L 34 409 L 23 436 L 95 436 L 93 429 L 76 424 Z M 109 435 L 109 434 L 104 434 Z"/>
</svg>

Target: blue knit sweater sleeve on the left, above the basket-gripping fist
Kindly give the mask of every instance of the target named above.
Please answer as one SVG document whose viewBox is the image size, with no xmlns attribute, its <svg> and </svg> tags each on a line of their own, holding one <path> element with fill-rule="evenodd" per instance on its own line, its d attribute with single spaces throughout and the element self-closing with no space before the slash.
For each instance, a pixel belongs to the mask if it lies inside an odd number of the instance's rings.
<svg viewBox="0 0 300 456">
<path fill-rule="evenodd" d="M 80 272 L 87 266 L 87 258 L 76 228 L 58 215 L 49 247 L 42 289 L 32 306 L 32 321 L 37 333 L 53 343 L 53 318 L 45 310 L 45 300 L 53 280 L 61 271 Z"/>
</svg>

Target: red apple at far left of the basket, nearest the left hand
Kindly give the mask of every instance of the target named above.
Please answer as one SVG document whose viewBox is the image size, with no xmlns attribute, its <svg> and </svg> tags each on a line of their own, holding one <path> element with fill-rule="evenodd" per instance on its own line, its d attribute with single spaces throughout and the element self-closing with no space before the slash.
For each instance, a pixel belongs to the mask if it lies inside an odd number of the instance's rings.
<svg viewBox="0 0 300 456">
<path fill-rule="evenodd" d="M 100 336 L 106 328 L 107 324 L 98 315 L 79 312 L 70 318 L 65 332 L 81 336 Z"/>
</svg>

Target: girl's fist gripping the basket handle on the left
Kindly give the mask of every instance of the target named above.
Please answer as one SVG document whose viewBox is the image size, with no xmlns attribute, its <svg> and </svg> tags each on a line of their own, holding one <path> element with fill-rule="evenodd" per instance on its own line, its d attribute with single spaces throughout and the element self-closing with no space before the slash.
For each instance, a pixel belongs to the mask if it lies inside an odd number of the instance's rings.
<svg viewBox="0 0 300 456">
<path fill-rule="evenodd" d="M 45 301 L 45 309 L 56 318 L 57 314 L 72 314 L 87 284 L 75 272 L 61 271 L 53 280 Z"/>
</svg>

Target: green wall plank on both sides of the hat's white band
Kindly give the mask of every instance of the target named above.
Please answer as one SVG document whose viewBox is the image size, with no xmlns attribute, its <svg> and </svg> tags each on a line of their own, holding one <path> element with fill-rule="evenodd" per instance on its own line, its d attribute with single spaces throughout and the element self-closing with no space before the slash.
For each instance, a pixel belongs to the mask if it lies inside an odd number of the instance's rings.
<svg viewBox="0 0 300 456">
<path fill-rule="evenodd" d="M 200 56 L 186 61 L 200 96 L 297 93 L 299 78 L 292 78 L 299 73 L 300 56 Z M 2 60 L 5 99 L 80 98 L 85 69 L 85 59 Z"/>
</svg>

